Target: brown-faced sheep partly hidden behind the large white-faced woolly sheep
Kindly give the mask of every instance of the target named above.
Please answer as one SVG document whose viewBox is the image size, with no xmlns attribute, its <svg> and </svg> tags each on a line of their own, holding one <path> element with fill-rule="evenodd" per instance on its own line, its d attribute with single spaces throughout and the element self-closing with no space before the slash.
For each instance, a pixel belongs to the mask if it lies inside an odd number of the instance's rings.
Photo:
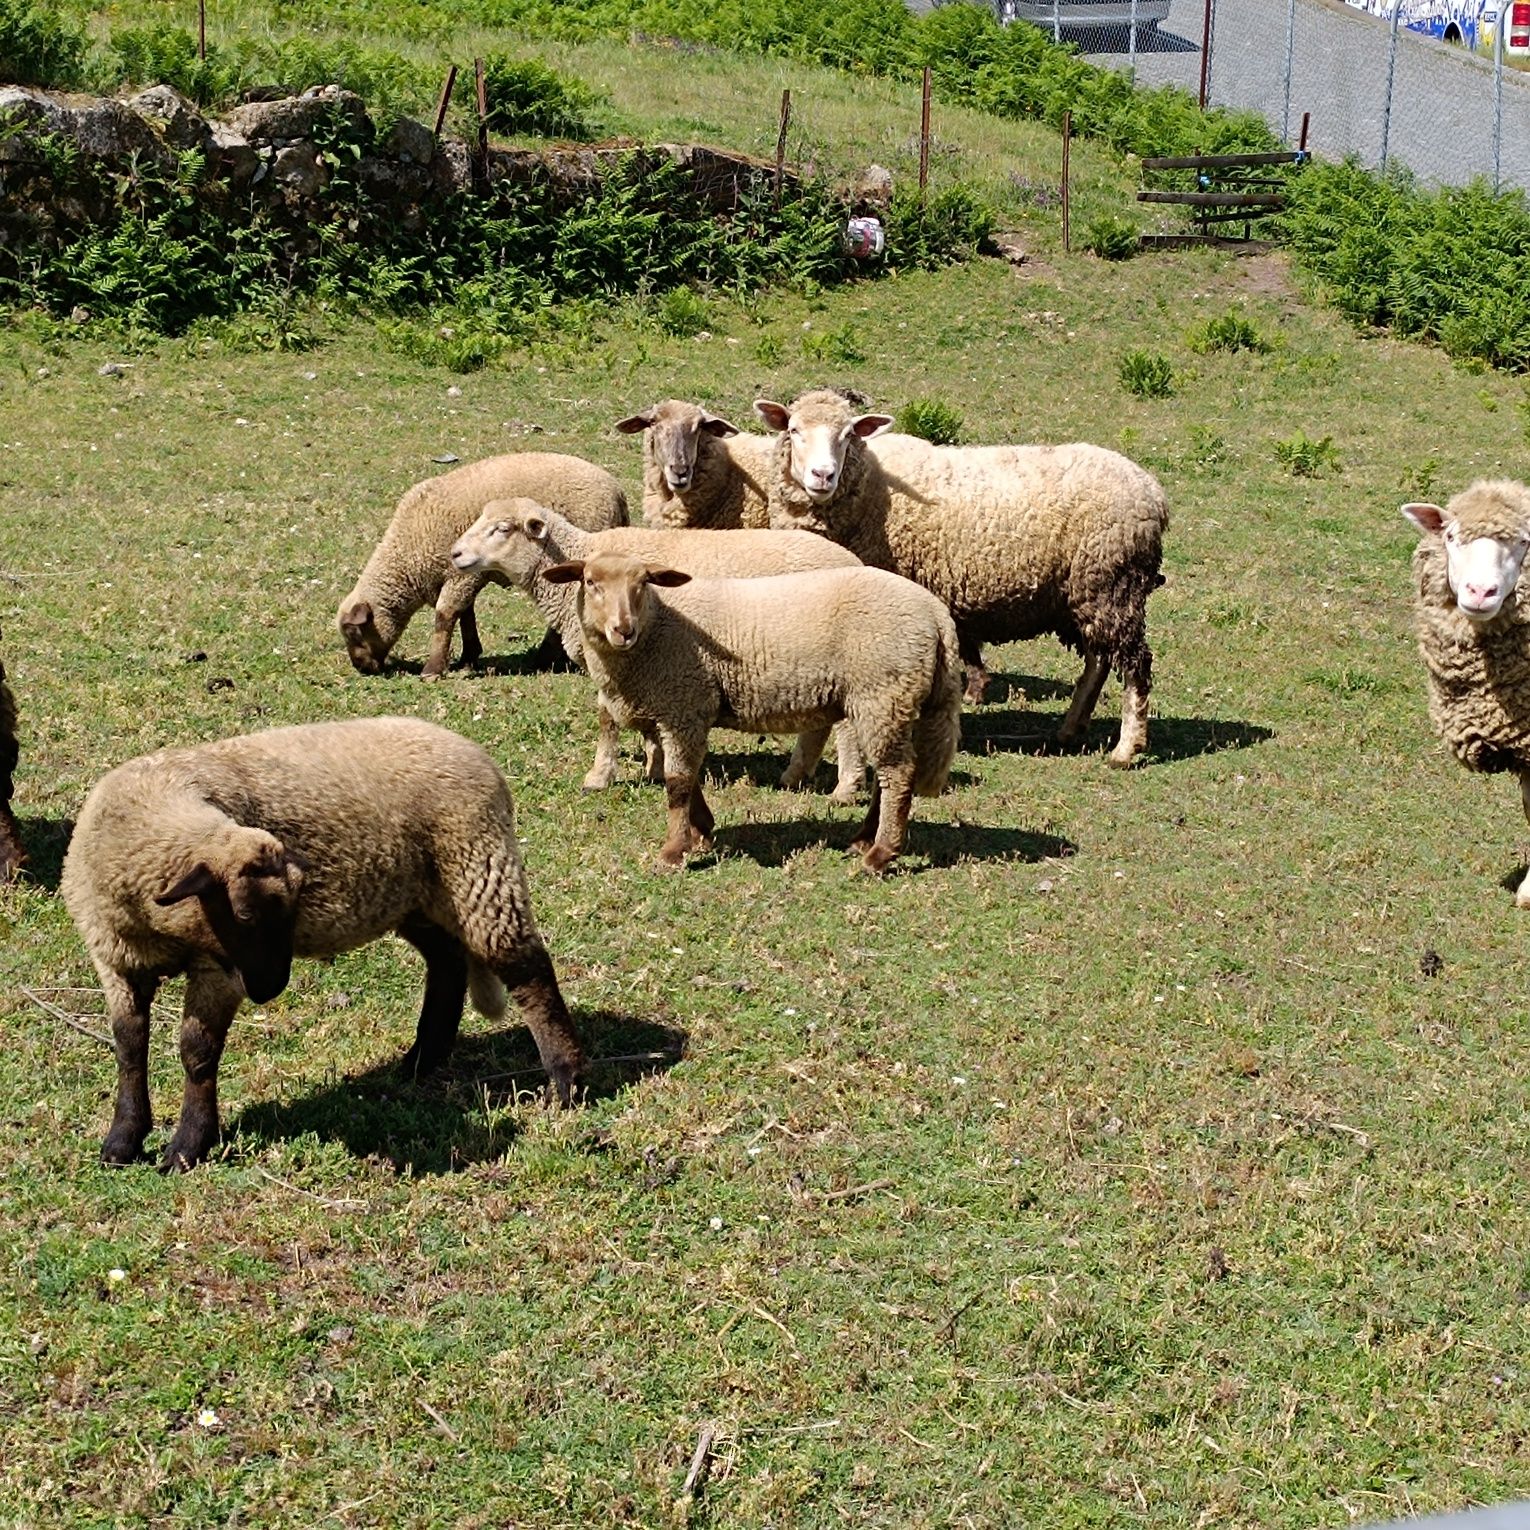
<svg viewBox="0 0 1530 1530">
<path fill-rule="evenodd" d="M 698 404 L 667 398 L 617 421 L 643 436 L 643 523 L 733 531 L 770 525 L 767 485 L 776 442 L 753 436 Z"/>
</svg>

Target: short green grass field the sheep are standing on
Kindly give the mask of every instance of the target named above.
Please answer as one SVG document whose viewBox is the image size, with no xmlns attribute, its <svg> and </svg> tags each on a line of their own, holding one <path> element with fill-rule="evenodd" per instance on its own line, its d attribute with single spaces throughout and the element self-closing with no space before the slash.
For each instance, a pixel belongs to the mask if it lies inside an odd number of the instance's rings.
<svg viewBox="0 0 1530 1530">
<path fill-rule="evenodd" d="M 1356 337 L 1273 259 L 1036 242 L 713 298 L 708 338 L 621 311 L 468 378 L 360 324 L 306 355 L 0 330 L 34 852 L 0 890 L 0 1521 L 1297 1530 L 1530 1495 L 1527 829 L 1429 737 L 1397 516 L 1525 474 L 1524 387 Z M 1229 311 L 1273 350 L 1196 353 Z M 1170 396 L 1123 392 L 1137 349 Z M 419 682 L 422 618 L 402 670 L 350 672 L 335 606 L 433 457 L 569 450 L 636 496 L 615 419 L 820 382 L 1161 476 L 1141 770 L 1103 765 L 1114 685 L 1048 753 L 1076 664 L 1016 646 L 886 881 L 843 854 L 858 812 L 774 788 L 785 744 L 728 734 L 718 854 L 662 877 L 635 751 L 580 793 L 589 684 L 523 672 L 519 597 L 480 601 L 485 673 Z M 99 1169 L 55 892 L 86 789 L 384 711 L 503 763 L 565 993 L 627 1060 L 554 1114 L 525 1033 L 470 1021 L 404 1085 L 421 972 L 384 942 L 242 1013 L 205 1167 Z"/>
</svg>

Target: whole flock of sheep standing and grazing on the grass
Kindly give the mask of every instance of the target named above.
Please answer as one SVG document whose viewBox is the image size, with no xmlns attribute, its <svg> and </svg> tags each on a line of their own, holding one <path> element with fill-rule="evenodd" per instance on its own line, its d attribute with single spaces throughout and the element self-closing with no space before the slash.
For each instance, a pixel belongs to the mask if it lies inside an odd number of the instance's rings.
<svg viewBox="0 0 1530 1530">
<path fill-rule="evenodd" d="M 789 733 L 782 785 L 806 785 L 837 730 L 834 797 L 871 770 L 852 840 L 868 872 L 901 852 L 915 794 L 946 783 L 962 698 L 982 696 L 982 646 L 1053 633 L 1083 658 L 1060 741 L 1083 736 L 1108 673 L 1121 678 L 1109 754 L 1148 744 L 1148 597 L 1163 583 L 1167 506 L 1118 453 L 938 447 L 890 433 L 857 398 L 760 399 L 771 435 L 667 401 L 618 422 L 643 433 L 643 526 L 620 483 L 578 457 L 516 453 L 430 479 L 399 502 L 338 626 L 378 673 L 410 618 L 435 612 L 424 675 L 474 600 L 525 591 L 597 688 L 595 760 L 615 779 L 618 730 L 646 742 L 666 788 L 661 868 L 710 845 L 702 765 L 713 727 Z M 1447 508 L 1408 505 L 1420 649 L 1435 725 L 1463 763 L 1519 774 L 1530 815 L 1530 615 L 1513 598 L 1530 548 L 1530 490 L 1475 483 Z M 964 673 L 965 672 L 965 678 Z M 0 670 L 0 877 L 21 863 L 11 817 L 15 708 Z M 425 959 L 404 1066 L 445 1060 L 464 1002 L 514 996 L 558 1097 L 583 1053 L 531 913 L 509 791 L 476 744 L 405 718 L 311 724 L 164 750 L 118 767 L 80 812 L 61 890 L 101 978 L 118 1060 L 103 1144 L 142 1154 L 151 1126 L 148 1016 L 185 975 L 185 1095 L 165 1167 L 216 1144 L 217 1069 L 243 998 L 265 1002 L 294 956 L 396 933 Z M 1530 906 L 1530 877 L 1518 901 Z"/>
</svg>

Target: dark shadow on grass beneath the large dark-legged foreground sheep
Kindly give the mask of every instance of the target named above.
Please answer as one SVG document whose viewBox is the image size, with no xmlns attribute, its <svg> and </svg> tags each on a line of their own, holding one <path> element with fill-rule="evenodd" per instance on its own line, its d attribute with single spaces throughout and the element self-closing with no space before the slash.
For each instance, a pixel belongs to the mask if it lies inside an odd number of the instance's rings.
<svg viewBox="0 0 1530 1530">
<path fill-rule="evenodd" d="M 575 1022 L 589 1057 L 584 1102 L 606 1100 L 685 1056 L 672 1025 L 609 1010 Z M 358 1158 L 382 1158 L 412 1177 L 454 1174 L 500 1157 L 516 1135 L 500 1108 L 542 1088 L 537 1047 L 523 1025 L 464 1030 L 451 1060 L 430 1079 L 405 1079 L 398 1057 L 294 1100 L 249 1105 L 225 1123 L 225 1140 L 259 1144 L 314 1135 L 341 1141 Z"/>
</svg>

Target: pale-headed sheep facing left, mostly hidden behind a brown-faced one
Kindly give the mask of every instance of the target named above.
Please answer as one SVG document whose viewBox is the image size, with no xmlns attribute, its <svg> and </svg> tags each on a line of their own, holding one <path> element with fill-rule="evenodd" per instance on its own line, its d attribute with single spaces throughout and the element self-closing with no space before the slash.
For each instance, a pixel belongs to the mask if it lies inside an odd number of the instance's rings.
<svg viewBox="0 0 1530 1530">
<path fill-rule="evenodd" d="M 485 505 L 483 514 L 453 545 L 451 562 L 464 572 L 482 569 L 525 591 L 552 630 L 562 633 L 569 658 L 583 664 L 584 644 L 575 594 L 565 584 L 549 584 L 542 575 L 554 563 L 591 558 L 597 552 L 618 552 L 702 578 L 757 578 L 762 574 L 860 566 L 854 552 L 805 531 L 666 531 L 656 526 L 581 531 L 555 509 L 532 499 L 496 499 Z M 646 722 L 641 730 L 649 741 L 649 779 L 662 780 L 664 760 L 658 753 L 658 741 Z M 617 731 L 601 696 L 600 739 L 595 745 L 595 763 L 584 777 L 586 791 L 598 791 L 617 779 Z M 808 760 L 805 741 L 799 741 L 780 783 L 788 789 L 805 785 L 819 762 L 819 750 Z M 864 767 L 846 728 L 840 728 L 838 751 L 840 774 L 834 800 L 854 802 Z"/>
</svg>

